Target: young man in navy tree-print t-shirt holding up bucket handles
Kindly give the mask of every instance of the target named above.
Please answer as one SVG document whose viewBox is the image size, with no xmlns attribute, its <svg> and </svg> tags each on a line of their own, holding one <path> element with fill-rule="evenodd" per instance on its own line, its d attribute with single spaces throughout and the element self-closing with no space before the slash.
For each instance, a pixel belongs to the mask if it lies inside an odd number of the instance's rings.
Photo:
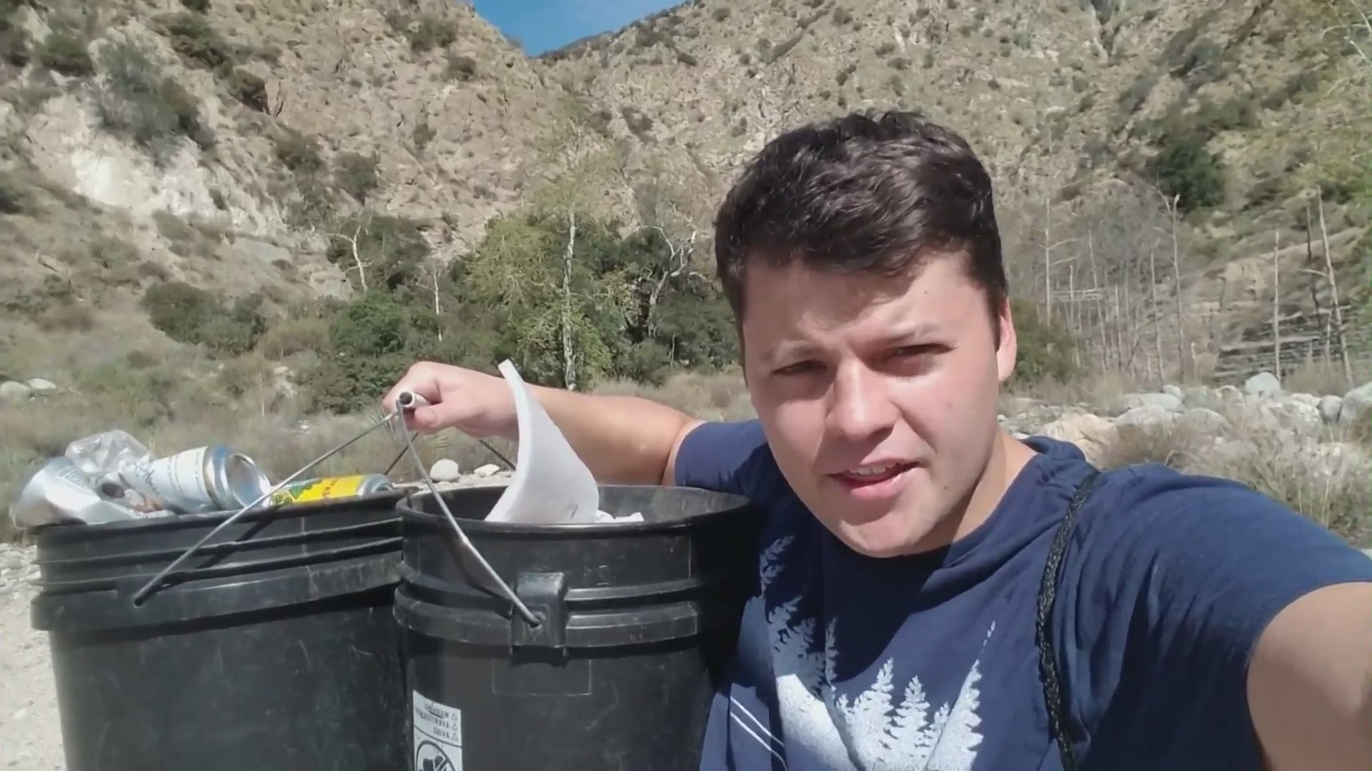
<svg viewBox="0 0 1372 771">
<path fill-rule="evenodd" d="M 704 768 L 1372 768 L 1372 560 L 1239 484 L 1098 476 L 997 427 L 1015 329 L 960 137 L 796 129 L 715 239 L 756 421 L 539 390 L 598 479 L 768 514 Z M 516 435 L 499 379 L 425 362 L 402 388 L 435 402 L 421 431 Z"/>
</svg>

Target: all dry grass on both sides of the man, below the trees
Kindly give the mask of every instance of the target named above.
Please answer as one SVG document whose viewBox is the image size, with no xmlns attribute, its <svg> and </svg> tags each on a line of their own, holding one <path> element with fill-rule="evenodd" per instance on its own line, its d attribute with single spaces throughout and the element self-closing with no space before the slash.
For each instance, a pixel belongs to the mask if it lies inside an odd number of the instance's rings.
<svg viewBox="0 0 1372 771">
<path fill-rule="evenodd" d="M 257 460 L 273 480 L 280 480 L 379 417 L 377 412 L 310 418 L 294 398 L 277 392 L 269 373 L 246 359 L 215 372 L 147 354 L 130 355 L 82 373 L 71 391 L 34 399 L 22 409 L 0 409 L 0 436 L 5 438 L 0 450 L 0 502 L 8 505 L 38 462 L 62 454 L 73 439 L 100 431 L 123 428 L 156 454 L 210 443 L 229 444 Z M 1135 383 L 1103 376 L 1044 386 L 1032 394 L 1052 403 L 1091 403 L 1099 402 L 1102 394 L 1135 387 Z M 681 373 L 656 388 L 615 381 L 595 391 L 645 396 L 707 420 L 741 420 L 755 414 L 737 372 Z M 236 394 L 236 398 L 221 394 Z M 309 428 L 303 429 L 305 425 Z M 1329 429 L 1318 443 L 1292 443 L 1287 436 L 1265 431 L 1244 420 L 1231 420 L 1231 428 L 1220 436 L 1181 421 L 1162 427 L 1117 427 L 1098 462 L 1106 468 L 1162 462 L 1190 473 L 1236 479 L 1350 541 L 1368 545 L 1372 539 L 1372 475 L 1367 464 L 1367 427 Z M 1332 444 L 1335 442 L 1343 444 Z M 494 446 L 513 458 L 510 443 Z M 1328 447 L 1345 449 L 1332 450 L 1345 453 L 1342 464 L 1320 457 L 1321 449 Z M 1351 447 L 1361 447 L 1362 454 Z M 414 479 L 407 458 L 397 462 L 401 449 L 388 429 L 377 429 L 322 464 L 316 473 L 391 471 L 397 479 Z M 425 464 L 440 457 L 453 458 L 464 471 L 498 462 L 480 443 L 456 432 L 424 438 L 421 454 Z M 14 535 L 5 531 L 8 527 L 8 516 L 0 516 L 0 539 Z"/>
</svg>

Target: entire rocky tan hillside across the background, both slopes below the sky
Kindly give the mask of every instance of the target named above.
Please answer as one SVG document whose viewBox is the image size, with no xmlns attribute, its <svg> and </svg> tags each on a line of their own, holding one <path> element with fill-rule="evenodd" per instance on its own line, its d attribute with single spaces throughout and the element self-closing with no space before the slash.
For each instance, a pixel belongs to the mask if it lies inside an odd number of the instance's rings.
<svg viewBox="0 0 1372 771">
<path fill-rule="evenodd" d="M 1287 310 L 1328 306 L 1301 273 L 1323 254 L 1314 191 L 1340 299 L 1365 284 L 1351 21 L 1327 0 L 709 0 L 530 59 L 446 0 L 0 0 L 0 372 L 180 350 L 137 303 L 165 280 L 348 296 L 364 259 L 342 247 L 373 217 L 446 263 L 560 174 L 628 221 L 708 233 L 767 137 L 890 106 L 985 155 L 1050 313 L 1044 287 L 1087 285 L 1084 241 L 1104 281 L 1124 262 L 1083 232 L 1118 220 L 1102 200 L 1177 196 L 1148 313 L 1220 313 L 1233 337 L 1270 316 L 1275 239 Z"/>
</svg>

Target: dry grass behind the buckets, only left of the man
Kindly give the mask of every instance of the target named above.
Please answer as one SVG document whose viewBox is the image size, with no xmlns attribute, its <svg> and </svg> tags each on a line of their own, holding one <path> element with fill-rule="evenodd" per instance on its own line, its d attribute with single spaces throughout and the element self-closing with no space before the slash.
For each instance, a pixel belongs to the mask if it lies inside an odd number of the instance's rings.
<svg viewBox="0 0 1372 771">
<path fill-rule="evenodd" d="M 712 420 L 752 416 L 737 375 L 678 375 L 661 388 L 619 381 L 597 391 L 646 396 Z M 158 455 L 228 444 L 247 453 L 277 482 L 357 436 L 379 417 L 380 409 L 357 416 L 306 416 L 294 398 L 277 392 L 270 368 L 251 357 L 213 370 L 150 354 L 130 355 L 81 373 L 71 390 L 19 409 L 0 409 L 0 436 L 5 438 L 0 450 L 0 503 L 8 506 L 38 464 L 63 454 L 71 440 L 102 431 L 122 428 Z M 513 443 L 493 440 L 491 446 L 513 460 Z M 402 449 L 394 432 L 379 428 L 310 476 L 390 471 L 398 480 L 417 479 L 407 457 L 397 462 Z M 425 465 L 451 458 L 462 471 L 499 464 L 482 443 L 451 431 L 423 436 L 420 454 Z M 0 516 L 0 541 L 15 536 L 10 528 L 5 513 Z"/>
</svg>

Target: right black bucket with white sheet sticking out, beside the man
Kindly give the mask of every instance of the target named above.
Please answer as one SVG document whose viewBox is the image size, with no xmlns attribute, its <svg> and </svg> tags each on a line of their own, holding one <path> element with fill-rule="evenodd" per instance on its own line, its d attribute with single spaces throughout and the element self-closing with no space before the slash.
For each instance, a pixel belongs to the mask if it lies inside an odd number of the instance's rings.
<svg viewBox="0 0 1372 771">
<path fill-rule="evenodd" d="M 696 771 L 756 584 L 757 509 L 705 490 L 604 486 L 604 510 L 646 521 L 482 521 L 502 491 L 443 499 L 538 626 L 480 578 L 432 495 L 399 505 L 414 768 Z"/>
</svg>

